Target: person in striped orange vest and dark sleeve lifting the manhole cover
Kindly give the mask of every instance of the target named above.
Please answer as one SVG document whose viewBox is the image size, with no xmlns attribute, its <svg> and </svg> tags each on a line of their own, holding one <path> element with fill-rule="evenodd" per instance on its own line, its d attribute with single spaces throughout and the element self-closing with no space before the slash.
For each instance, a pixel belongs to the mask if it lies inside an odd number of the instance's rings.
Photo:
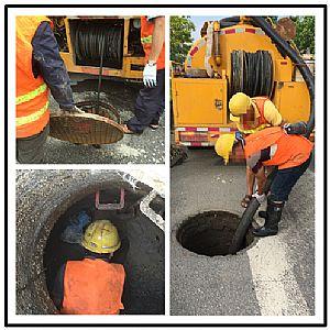
<svg viewBox="0 0 330 330">
<path fill-rule="evenodd" d="M 79 112 L 46 16 L 16 16 L 16 160 L 40 163 L 50 132 L 48 90 L 64 111 Z"/>
</svg>

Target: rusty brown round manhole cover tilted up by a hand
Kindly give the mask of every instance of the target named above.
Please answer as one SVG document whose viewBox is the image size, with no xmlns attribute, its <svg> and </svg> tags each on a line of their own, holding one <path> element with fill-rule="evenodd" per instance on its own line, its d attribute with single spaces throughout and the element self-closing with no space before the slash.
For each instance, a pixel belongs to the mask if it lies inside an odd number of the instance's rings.
<svg viewBox="0 0 330 330">
<path fill-rule="evenodd" d="M 119 123 L 98 114 L 52 114 L 50 135 L 79 144 L 110 144 L 123 138 L 123 130 Z"/>
</svg>

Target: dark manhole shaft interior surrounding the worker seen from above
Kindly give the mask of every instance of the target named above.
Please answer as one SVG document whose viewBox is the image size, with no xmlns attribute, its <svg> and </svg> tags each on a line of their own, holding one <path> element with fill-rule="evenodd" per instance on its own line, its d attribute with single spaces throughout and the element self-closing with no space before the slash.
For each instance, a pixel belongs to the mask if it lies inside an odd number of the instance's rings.
<svg viewBox="0 0 330 330">
<path fill-rule="evenodd" d="M 121 189 L 110 188 L 100 190 L 100 202 L 119 204 Z M 79 242 L 88 224 L 98 219 L 110 220 L 118 229 L 121 248 L 114 253 L 111 262 L 122 263 L 125 268 L 125 284 L 122 296 L 124 310 L 121 314 L 164 314 L 164 232 L 153 224 L 139 211 L 139 201 L 144 194 L 125 190 L 124 208 L 120 210 L 97 210 L 95 193 L 85 196 L 56 220 L 43 254 L 48 296 L 52 297 L 56 274 L 66 261 L 82 260 L 88 254 Z M 156 209 L 163 207 L 164 200 L 154 201 Z M 90 222 L 82 231 L 72 231 L 64 235 L 67 228 L 78 215 L 85 212 Z M 140 232 L 141 231 L 141 232 Z M 77 242 L 76 242 L 77 241 Z M 150 257 L 144 255 L 146 251 Z M 152 270 L 152 271 L 151 271 Z M 147 283 L 154 285 L 150 289 Z M 157 285 L 156 285 L 157 284 Z M 145 301 L 136 299 L 144 296 Z"/>
</svg>

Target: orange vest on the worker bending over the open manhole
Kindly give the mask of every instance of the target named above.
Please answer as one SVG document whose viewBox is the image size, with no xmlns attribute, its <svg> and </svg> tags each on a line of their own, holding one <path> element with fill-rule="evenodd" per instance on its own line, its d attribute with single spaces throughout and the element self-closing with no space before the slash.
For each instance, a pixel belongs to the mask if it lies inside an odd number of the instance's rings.
<svg viewBox="0 0 330 330">
<path fill-rule="evenodd" d="M 278 127 L 267 128 L 245 138 L 245 158 L 274 144 L 277 145 L 275 154 L 270 161 L 263 162 L 263 165 L 276 165 L 278 169 L 295 167 L 305 163 L 314 147 L 314 144 L 301 135 L 286 134 Z"/>
</svg>

